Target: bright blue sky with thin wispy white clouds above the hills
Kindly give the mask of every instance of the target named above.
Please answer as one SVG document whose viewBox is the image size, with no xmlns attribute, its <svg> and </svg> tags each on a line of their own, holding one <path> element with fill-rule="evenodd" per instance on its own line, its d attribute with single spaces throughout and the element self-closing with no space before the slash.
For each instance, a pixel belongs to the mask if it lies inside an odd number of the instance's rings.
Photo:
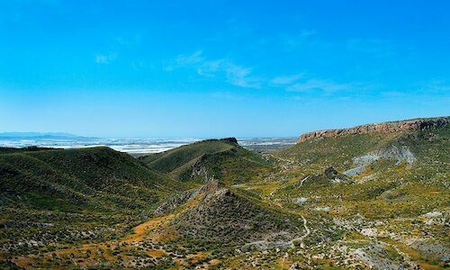
<svg viewBox="0 0 450 270">
<path fill-rule="evenodd" d="M 450 114 L 450 1 L 0 2 L 0 131 L 284 137 Z"/>
</svg>

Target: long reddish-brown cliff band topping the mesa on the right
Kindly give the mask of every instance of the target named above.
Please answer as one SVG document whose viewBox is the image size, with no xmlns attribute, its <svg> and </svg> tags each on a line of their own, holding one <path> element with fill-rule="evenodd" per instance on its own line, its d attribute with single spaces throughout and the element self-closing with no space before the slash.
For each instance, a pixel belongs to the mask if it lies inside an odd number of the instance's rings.
<svg viewBox="0 0 450 270">
<path fill-rule="evenodd" d="M 450 123 L 450 116 L 436 118 L 418 118 L 405 121 L 386 121 L 366 124 L 350 129 L 318 130 L 302 134 L 297 143 L 314 138 L 338 137 L 354 134 L 392 133 L 403 130 L 430 130 L 443 127 Z"/>
</svg>

